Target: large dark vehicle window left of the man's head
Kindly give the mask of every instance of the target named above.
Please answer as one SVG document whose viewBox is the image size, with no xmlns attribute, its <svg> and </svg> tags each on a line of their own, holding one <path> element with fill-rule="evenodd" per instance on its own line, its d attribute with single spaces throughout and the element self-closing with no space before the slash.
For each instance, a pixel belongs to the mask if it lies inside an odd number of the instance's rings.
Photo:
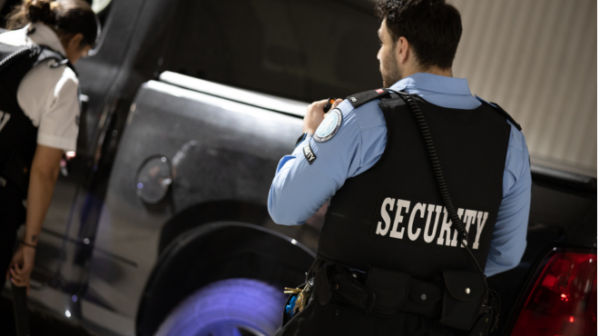
<svg viewBox="0 0 599 336">
<path fill-rule="evenodd" d="M 162 70 L 307 102 L 378 87 L 378 20 L 343 4 L 183 1 Z"/>
</svg>

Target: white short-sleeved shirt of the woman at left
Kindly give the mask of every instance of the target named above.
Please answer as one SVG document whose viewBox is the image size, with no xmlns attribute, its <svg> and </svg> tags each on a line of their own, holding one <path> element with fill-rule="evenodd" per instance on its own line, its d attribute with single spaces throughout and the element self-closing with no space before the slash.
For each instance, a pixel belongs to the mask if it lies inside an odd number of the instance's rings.
<svg viewBox="0 0 599 336">
<path fill-rule="evenodd" d="M 27 32 L 33 33 L 27 36 Z M 65 55 L 58 35 L 47 25 L 36 23 L 0 34 L 0 43 L 42 44 Z M 79 80 L 68 66 L 50 67 L 54 60 L 37 64 L 25 74 L 16 98 L 25 115 L 37 129 L 37 143 L 74 151 L 79 133 Z"/>
</svg>

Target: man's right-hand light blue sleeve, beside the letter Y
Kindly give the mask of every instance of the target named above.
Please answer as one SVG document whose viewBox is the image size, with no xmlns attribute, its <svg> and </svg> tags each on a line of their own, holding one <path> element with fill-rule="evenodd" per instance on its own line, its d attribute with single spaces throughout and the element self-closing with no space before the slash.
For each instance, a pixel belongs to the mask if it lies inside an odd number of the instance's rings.
<svg viewBox="0 0 599 336">
<path fill-rule="evenodd" d="M 504 198 L 499 206 L 493 239 L 486 261 L 487 276 L 518 265 L 526 248 L 532 178 L 524 135 L 513 124 L 504 171 Z"/>
</svg>

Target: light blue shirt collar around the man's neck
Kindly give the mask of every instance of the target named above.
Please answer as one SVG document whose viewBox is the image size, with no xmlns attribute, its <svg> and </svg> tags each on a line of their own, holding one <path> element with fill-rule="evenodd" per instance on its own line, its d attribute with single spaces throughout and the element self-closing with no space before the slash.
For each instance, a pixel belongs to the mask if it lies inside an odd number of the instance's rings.
<svg viewBox="0 0 599 336">
<path fill-rule="evenodd" d="M 439 94 L 467 94 L 470 93 L 466 78 L 454 78 L 438 74 L 417 73 L 391 85 L 390 89 L 400 91 L 406 88 L 415 88 L 433 91 Z"/>
</svg>

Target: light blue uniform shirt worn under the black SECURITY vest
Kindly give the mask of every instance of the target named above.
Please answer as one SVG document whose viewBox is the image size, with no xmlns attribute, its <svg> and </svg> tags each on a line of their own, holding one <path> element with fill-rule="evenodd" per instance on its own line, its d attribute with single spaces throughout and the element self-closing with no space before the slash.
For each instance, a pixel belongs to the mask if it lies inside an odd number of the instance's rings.
<svg viewBox="0 0 599 336">
<path fill-rule="evenodd" d="M 482 104 L 479 98 L 470 94 L 464 78 L 420 73 L 406 77 L 390 88 L 418 94 L 431 104 L 448 108 L 469 110 Z M 309 136 L 293 153 L 280 160 L 269 194 L 269 212 L 274 222 L 283 225 L 306 222 L 347 179 L 366 172 L 377 163 L 387 144 L 387 124 L 378 102 L 377 99 L 364 104 L 356 113 L 349 101 L 343 101 L 338 106 L 343 123 L 332 139 L 317 143 Z M 499 206 L 486 262 L 487 276 L 516 267 L 526 247 L 531 191 L 528 149 L 524 135 L 510 125 L 504 198 Z M 316 155 L 312 164 L 302 152 L 306 142 Z"/>
</svg>

